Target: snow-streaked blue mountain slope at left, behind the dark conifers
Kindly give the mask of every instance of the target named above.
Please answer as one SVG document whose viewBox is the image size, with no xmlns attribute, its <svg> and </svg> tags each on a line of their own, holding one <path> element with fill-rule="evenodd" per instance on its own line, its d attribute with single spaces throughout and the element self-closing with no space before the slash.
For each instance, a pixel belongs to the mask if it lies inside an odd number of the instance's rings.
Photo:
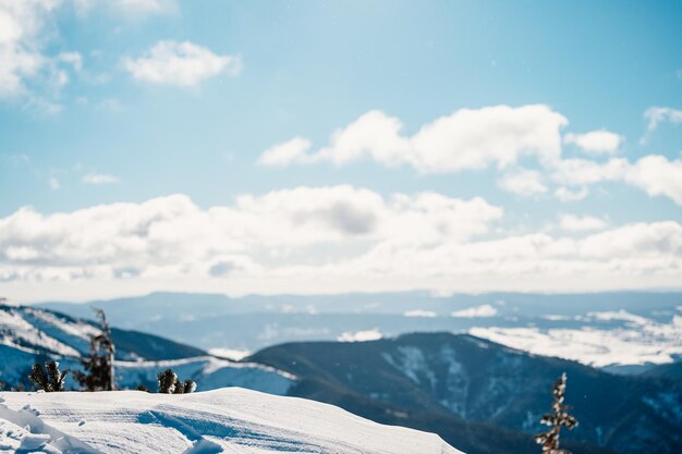
<svg viewBox="0 0 682 454">
<path fill-rule="evenodd" d="M 26 306 L 0 305 L 0 383 L 5 388 L 29 385 L 31 366 L 56 358 L 63 369 L 77 369 L 88 352 L 95 323 L 63 314 Z M 112 329 L 117 345 L 117 382 L 135 389 L 156 389 L 156 376 L 172 368 L 193 379 L 203 390 L 228 385 L 272 394 L 285 394 L 293 383 L 290 373 L 253 363 L 235 363 L 209 356 L 202 349 L 156 335 Z M 71 376 L 69 376 L 71 377 Z M 66 386 L 73 386 L 72 381 Z"/>
</svg>

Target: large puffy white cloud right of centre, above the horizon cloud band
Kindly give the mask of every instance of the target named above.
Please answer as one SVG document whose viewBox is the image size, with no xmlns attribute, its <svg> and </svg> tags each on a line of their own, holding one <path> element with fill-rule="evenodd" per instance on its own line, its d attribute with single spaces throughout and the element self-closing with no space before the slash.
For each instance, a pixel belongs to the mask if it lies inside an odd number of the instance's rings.
<svg viewBox="0 0 682 454">
<path fill-rule="evenodd" d="M 404 136 L 399 119 L 374 110 L 334 132 L 328 146 L 309 152 L 299 138 L 294 151 L 281 152 L 281 159 L 272 163 L 329 161 L 341 165 L 369 158 L 385 165 L 409 164 L 422 172 L 443 173 L 491 164 L 506 168 L 523 156 L 552 162 L 560 158 L 560 130 L 565 124 L 567 119 L 547 106 L 495 106 L 460 109 L 425 124 L 413 136 Z M 276 147 L 266 151 L 263 163 L 268 163 L 264 161 L 271 159 Z"/>
</svg>

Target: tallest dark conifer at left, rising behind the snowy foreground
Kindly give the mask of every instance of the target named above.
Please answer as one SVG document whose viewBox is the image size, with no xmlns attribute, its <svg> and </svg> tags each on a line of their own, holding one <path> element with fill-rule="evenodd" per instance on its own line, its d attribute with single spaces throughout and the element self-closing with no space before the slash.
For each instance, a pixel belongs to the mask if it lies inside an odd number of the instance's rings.
<svg viewBox="0 0 682 454">
<path fill-rule="evenodd" d="M 95 309 L 95 312 L 99 319 L 100 333 L 90 336 L 90 353 L 81 360 L 85 372 L 77 371 L 74 375 L 87 391 L 113 391 L 115 347 L 105 311 Z"/>
</svg>

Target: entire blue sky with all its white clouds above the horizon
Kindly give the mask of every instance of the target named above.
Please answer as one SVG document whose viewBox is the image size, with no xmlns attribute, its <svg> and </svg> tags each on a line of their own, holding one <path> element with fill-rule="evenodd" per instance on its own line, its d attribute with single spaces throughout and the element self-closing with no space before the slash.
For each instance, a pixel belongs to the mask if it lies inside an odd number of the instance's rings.
<svg viewBox="0 0 682 454">
<path fill-rule="evenodd" d="M 681 17 L 0 0 L 0 296 L 680 289 Z"/>
</svg>

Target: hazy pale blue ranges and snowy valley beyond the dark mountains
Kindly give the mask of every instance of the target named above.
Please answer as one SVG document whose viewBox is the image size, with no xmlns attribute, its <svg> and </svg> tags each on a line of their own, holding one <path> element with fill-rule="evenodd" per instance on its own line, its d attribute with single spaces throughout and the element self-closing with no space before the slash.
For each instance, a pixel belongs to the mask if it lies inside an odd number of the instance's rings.
<svg viewBox="0 0 682 454">
<path fill-rule="evenodd" d="M 204 349 L 254 352 L 296 341 L 367 340 L 410 332 L 473 333 L 619 373 L 682 359 L 682 293 L 455 294 L 426 292 L 321 296 L 155 293 L 40 307 L 92 317 L 101 307 L 120 328 Z"/>
</svg>

